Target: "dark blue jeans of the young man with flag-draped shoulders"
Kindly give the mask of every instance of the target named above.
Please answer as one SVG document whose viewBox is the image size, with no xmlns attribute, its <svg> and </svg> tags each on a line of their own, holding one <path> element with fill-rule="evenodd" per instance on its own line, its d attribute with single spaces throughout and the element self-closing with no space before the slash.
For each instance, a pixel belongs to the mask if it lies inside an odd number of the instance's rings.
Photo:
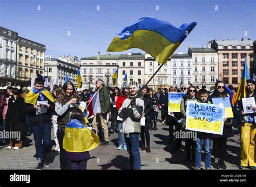
<svg viewBox="0 0 256 187">
<path fill-rule="evenodd" d="M 44 125 L 31 125 L 35 146 L 36 146 L 36 157 L 38 163 L 44 162 L 48 146 L 51 141 L 51 123 Z"/>
</svg>

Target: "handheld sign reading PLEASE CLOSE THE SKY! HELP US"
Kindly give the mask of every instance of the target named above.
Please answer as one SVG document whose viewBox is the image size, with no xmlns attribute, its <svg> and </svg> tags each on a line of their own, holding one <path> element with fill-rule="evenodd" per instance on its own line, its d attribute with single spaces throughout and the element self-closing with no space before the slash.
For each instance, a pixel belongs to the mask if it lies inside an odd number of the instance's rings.
<svg viewBox="0 0 256 187">
<path fill-rule="evenodd" d="M 224 106 L 187 102 L 186 130 L 223 134 Z"/>
</svg>

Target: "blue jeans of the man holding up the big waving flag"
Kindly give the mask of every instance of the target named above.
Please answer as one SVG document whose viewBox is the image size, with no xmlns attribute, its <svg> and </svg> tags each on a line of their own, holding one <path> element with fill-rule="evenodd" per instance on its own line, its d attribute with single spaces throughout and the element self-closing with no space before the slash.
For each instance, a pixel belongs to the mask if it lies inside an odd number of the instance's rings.
<svg viewBox="0 0 256 187">
<path fill-rule="evenodd" d="M 124 136 L 127 151 L 130 154 L 130 166 L 131 169 L 140 169 L 140 154 L 139 154 L 139 133 L 127 133 Z"/>
</svg>

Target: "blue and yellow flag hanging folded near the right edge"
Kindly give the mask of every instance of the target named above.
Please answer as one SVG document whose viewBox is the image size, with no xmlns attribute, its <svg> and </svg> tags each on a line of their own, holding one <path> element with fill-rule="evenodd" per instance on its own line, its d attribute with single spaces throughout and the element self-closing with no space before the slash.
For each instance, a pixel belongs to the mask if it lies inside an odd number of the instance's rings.
<svg viewBox="0 0 256 187">
<path fill-rule="evenodd" d="M 244 70 L 242 70 L 242 76 L 241 80 L 239 82 L 238 90 L 237 90 L 237 95 L 235 96 L 235 103 L 238 100 L 241 100 L 241 98 L 246 97 L 246 81 L 250 80 L 250 71 L 248 69 L 247 65 L 247 57 L 245 57 L 245 67 Z"/>
</svg>

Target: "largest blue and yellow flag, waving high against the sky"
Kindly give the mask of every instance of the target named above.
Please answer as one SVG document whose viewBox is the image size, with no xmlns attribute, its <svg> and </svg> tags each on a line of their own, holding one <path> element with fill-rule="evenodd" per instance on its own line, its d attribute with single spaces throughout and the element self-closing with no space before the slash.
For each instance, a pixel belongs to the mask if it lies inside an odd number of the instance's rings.
<svg viewBox="0 0 256 187">
<path fill-rule="evenodd" d="M 122 52 L 139 48 L 159 63 L 165 63 L 196 25 L 196 22 L 192 22 L 178 28 L 156 18 L 140 18 L 137 23 L 117 33 L 123 37 L 114 37 L 107 51 Z"/>
</svg>

